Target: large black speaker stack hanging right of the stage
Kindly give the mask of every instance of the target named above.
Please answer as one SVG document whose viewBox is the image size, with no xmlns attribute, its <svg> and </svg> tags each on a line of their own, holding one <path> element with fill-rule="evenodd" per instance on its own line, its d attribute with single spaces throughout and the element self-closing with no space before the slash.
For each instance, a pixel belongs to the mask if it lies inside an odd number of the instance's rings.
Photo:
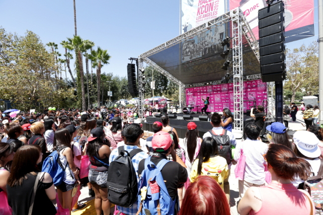
<svg viewBox="0 0 323 215">
<path fill-rule="evenodd" d="M 260 71 L 263 82 L 286 78 L 284 3 L 278 1 L 258 11 Z"/>
</svg>

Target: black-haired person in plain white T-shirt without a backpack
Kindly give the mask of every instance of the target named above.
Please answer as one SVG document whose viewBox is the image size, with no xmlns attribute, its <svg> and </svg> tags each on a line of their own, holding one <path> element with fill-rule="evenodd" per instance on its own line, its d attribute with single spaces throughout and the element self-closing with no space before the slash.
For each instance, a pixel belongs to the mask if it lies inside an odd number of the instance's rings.
<svg viewBox="0 0 323 215">
<path fill-rule="evenodd" d="M 249 187 L 260 187 L 265 185 L 266 163 L 263 155 L 267 153 L 268 145 L 258 141 L 261 129 L 254 123 L 248 123 L 244 127 L 247 139 L 237 144 L 234 159 L 239 160 L 241 149 L 245 156 L 244 177 L 239 180 L 239 195 L 243 197 Z"/>
</svg>

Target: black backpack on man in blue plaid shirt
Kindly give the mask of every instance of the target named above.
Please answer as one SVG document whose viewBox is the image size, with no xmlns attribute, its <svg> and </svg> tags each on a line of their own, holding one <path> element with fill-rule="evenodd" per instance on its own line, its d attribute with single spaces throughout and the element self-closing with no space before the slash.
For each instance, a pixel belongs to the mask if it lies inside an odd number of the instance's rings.
<svg viewBox="0 0 323 215">
<path fill-rule="evenodd" d="M 106 182 L 108 199 L 112 204 L 128 208 L 136 201 L 138 182 L 131 158 L 141 151 L 136 148 L 129 153 L 124 146 L 118 147 L 119 156 L 110 163 Z"/>
</svg>

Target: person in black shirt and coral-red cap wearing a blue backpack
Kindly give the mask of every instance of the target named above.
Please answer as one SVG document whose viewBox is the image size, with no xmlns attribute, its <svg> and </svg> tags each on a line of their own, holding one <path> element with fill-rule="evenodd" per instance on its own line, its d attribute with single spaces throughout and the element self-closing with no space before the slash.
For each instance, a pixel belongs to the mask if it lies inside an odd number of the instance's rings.
<svg viewBox="0 0 323 215">
<path fill-rule="evenodd" d="M 182 188 L 187 180 L 186 166 L 176 154 L 174 150 L 174 142 L 171 140 L 168 133 L 163 131 L 156 133 L 152 140 L 152 146 L 154 153 L 151 161 L 155 165 L 157 165 L 162 159 L 167 159 L 167 155 L 169 154 L 171 154 L 173 160 L 176 161 L 166 163 L 161 170 L 161 175 L 171 199 L 178 199 L 177 189 Z M 158 152 L 156 150 L 158 150 Z M 139 162 L 138 174 L 142 174 L 143 170 L 145 169 L 145 160 L 146 159 L 142 159 Z M 177 208 L 178 207 L 175 206 L 175 214 L 177 214 Z"/>
</svg>

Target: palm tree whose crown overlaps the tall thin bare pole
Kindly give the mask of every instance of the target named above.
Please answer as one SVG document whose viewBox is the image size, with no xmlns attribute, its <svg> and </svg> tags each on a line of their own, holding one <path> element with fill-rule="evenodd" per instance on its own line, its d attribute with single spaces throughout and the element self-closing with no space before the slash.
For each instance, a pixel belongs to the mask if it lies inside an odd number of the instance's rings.
<svg viewBox="0 0 323 215">
<path fill-rule="evenodd" d="M 83 72 L 83 62 L 82 62 L 82 46 L 83 46 L 83 40 L 80 36 L 74 36 L 73 38 L 68 38 L 69 41 L 71 41 L 71 44 L 66 45 L 66 48 L 69 50 L 74 50 L 76 55 L 76 60 L 78 61 L 77 72 L 80 72 L 80 80 L 81 80 L 81 98 L 82 98 L 82 108 L 83 110 L 86 109 L 85 104 L 85 89 L 84 89 L 84 72 Z"/>
</svg>

